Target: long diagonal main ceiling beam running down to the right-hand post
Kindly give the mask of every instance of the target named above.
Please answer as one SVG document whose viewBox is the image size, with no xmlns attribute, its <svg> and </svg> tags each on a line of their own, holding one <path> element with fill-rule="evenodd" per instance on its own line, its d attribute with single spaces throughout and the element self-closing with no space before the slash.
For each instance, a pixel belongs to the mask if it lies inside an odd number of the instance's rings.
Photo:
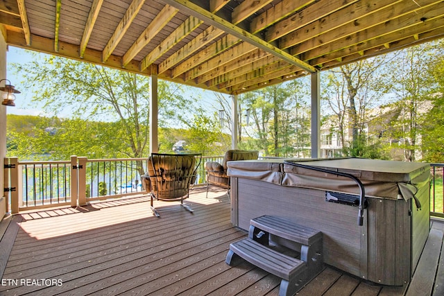
<svg viewBox="0 0 444 296">
<path fill-rule="evenodd" d="M 208 10 L 203 9 L 194 3 L 191 3 L 186 0 L 164 0 L 164 2 L 178 8 L 179 10 L 189 15 L 193 15 L 194 17 L 203 20 L 207 24 L 211 24 L 216 28 L 220 28 L 221 30 L 225 31 L 230 35 L 238 37 L 240 40 L 243 40 L 244 42 L 253 44 L 254 46 L 257 46 L 259 49 L 267 51 L 268 53 L 271 53 L 272 55 L 275 55 L 282 60 L 286 60 L 291 64 L 295 64 L 296 66 L 305 69 L 311 73 L 316 72 L 316 69 L 312 67 L 310 64 L 303 62 L 298 58 L 293 57 L 293 55 L 290 55 L 286 51 L 282 51 L 278 47 L 273 46 L 268 42 L 265 42 L 256 35 L 253 35 L 250 32 L 239 28 L 238 26 L 230 23 L 229 21 L 226 21 L 225 19 L 222 19 L 221 17 L 218 17 L 217 15 L 212 14 Z"/>
</svg>

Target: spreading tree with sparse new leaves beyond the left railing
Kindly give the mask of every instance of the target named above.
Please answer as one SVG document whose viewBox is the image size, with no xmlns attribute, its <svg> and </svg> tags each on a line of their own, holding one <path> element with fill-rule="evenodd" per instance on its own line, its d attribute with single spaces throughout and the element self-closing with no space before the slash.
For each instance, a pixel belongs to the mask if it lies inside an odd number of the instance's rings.
<svg viewBox="0 0 444 296">
<path fill-rule="evenodd" d="M 13 67 L 28 82 L 28 92 L 34 92 L 33 101 L 43 104 L 46 112 L 69 111 L 69 117 L 74 119 L 112 122 L 105 129 L 95 126 L 99 130 L 90 133 L 93 141 L 83 139 L 82 134 L 91 130 L 90 124 L 66 121 L 73 126 L 65 125 L 60 136 L 63 134 L 65 141 L 73 143 L 75 154 L 78 155 L 88 141 L 95 143 L 88 148 L 96 148 L 92 152 L 102 157 L 105 153 L 110 157 L 143 157 L 148 153 L 148 77 L 49 55 L 44 60 Z M 160 80 L 158 97 L 161 126 L 187 121 L 187 110 L 193 104 L 191 98 L 182 96 L 178 85 Z"/>
</svg>

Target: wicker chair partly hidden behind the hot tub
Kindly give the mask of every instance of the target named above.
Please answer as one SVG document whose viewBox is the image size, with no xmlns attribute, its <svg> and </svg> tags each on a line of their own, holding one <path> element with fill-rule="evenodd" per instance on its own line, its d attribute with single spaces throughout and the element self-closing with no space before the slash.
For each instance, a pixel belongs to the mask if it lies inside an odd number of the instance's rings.
<svg viewBox="0 0 444 296">
<path fill-rule="evenodd" d="M 227 175 L 227 162 L 231 160 L 257 159 L 258 155 L 259 152 L 255 150 L 228 150 L 223 157 L 222 164 L 219 164 L 219 162 L 205 162 L 207 197 L 208 186 L 215 185 L 227 189 L 228 198 L 230 198 L 230 177 Z"/>
</svg>

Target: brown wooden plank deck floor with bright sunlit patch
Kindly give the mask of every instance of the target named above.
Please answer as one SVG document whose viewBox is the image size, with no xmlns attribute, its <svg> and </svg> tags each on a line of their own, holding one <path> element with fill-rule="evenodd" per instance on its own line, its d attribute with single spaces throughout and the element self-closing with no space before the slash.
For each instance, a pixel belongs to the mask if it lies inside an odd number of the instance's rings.
<svg viewBox="0 0 444 296">
<path fill-rule="evenodd" d="M 194 214 L 156 201 L 162 218 L 146 196 L 14 216 L 0 241 L 0 295 L 278 295 L 278 277 L 225 263 L 230 243 L 246 236 L 230 223 L 225 193 L 205 198 L 194 189 L 187 200 Z M 406 295 L 443 295 L 443 225 L 433 223 Z M 326 266 L 298 295 L 403 295 L 405 288 Z"/>
</svg>

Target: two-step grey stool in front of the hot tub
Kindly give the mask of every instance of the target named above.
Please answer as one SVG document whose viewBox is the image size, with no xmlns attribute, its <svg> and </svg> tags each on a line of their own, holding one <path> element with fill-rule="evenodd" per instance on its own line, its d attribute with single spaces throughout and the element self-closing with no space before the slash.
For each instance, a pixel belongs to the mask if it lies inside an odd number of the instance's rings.
<svg viewBox="0 0 444 296">
<path fill-rule="evenodd" d="M 271 248 L 283 245 L 300 252 L 300 259 Z M 250 220 L 248 238 L 230 244 L 225 262 L 244 259 L 280 277 L 279 295 L 294 295 L 323 269 L 322 233 L 276 216 Z"/>
</svg>

